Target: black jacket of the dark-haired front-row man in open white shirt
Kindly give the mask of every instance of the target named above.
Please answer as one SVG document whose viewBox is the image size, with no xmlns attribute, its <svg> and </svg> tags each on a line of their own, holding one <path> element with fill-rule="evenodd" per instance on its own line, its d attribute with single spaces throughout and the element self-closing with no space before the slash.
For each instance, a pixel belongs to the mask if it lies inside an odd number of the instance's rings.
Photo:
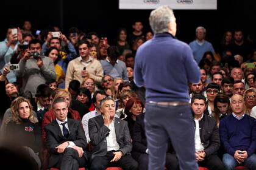
<svg viewBox="0 0 256 170">
<path fill-rule="evenodd" d="M 221 146 L 216 121 L 212 117 L 204 114 L 202 120 L 199 121 L 199 128 L 200 139 L 204 146 L 206 156 L 216 154 L 219 146 Z"/>
</svg>

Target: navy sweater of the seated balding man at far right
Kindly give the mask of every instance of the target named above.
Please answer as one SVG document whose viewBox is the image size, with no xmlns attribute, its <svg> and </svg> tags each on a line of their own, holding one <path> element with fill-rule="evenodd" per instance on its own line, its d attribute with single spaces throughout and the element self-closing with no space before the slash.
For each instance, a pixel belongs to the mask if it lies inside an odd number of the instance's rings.
<svg viewBox="0 0 256 170">
<path fill-rule="evenodd" d="M 234 155 L 236 150 L 254 154 L 256 149 L 256 119 L 244 115 L 241 120 L 229 115 L 219 123 L 219 137 L 225 151 Z"/>
</svg>

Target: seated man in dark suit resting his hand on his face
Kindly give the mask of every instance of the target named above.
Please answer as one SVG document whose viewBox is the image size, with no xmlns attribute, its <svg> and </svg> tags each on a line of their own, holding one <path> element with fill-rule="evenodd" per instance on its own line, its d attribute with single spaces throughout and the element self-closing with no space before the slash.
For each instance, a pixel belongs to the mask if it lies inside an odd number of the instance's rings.
<svg viewBox="0 0 256 170">
<path fill-rule="evenodd" d="M 132 140 L 127 122 L 115 117 L 115 101 L 105 97 L 101 100 L 102 115 L 90 118 L 89 136 L 93 144 L 91 170 L 119 166 L 137 169 L 138 163 L 130 155 Z"/>
</svg>

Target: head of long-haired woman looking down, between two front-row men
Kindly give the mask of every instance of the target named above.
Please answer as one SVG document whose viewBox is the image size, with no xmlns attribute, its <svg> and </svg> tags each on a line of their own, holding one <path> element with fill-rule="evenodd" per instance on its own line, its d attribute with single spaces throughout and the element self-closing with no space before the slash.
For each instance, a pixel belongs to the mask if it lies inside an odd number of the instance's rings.
<svg viewBox="0 0 256 170">
<path fill-rule="evenodd" d="M 219 126 L 219 121 L 231 114 L 232 110 L 230 108 L 230 100 L 229 97 L 223 94 L 219 94 L 215 97 L 214 100 L 214 114 L 213 118 L 215 118 L 217 125 Z"/>
</svg>

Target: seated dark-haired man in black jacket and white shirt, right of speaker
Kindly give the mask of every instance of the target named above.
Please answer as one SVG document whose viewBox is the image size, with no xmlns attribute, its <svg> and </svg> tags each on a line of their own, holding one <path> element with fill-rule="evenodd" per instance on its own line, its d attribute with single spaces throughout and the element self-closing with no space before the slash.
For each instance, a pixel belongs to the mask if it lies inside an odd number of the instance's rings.
<svg viewBox="0 0 256 170">
<path fill-rule="evenodd" d="M 217 155 L 219 149 L 219 132 L 215 120 L 204 114 L 206 99 L 196 94 L 191 99 L 191 108 L 194 112 L 196 161 L 199 166 L 208 169 L 225 169 Z"/>
</svg>

